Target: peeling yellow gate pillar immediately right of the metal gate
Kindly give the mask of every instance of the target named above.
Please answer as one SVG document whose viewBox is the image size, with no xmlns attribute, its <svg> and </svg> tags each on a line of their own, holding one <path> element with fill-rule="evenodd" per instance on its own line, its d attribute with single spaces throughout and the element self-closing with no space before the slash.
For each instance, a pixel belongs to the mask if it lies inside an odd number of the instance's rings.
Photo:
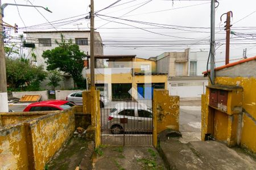
<svg viewBox="0 0 256 170">
<path fill-rule="evenodd" d="M 155 89 L 153 101 L 153 145 L 157 145 L 157 135 L 166 130 L 179 131 L 179 96 L 169 96 L 168 90 Z"/>
</svg>

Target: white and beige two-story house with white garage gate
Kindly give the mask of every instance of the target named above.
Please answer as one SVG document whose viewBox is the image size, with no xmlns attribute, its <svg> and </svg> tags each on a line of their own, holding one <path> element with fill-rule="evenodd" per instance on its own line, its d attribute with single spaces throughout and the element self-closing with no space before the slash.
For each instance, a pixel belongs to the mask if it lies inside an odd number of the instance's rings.
<svg viewBox="0 0 256 170">
<path fill-rule="evenodd" d="M 157 72 L 168 73 L 168 90 L 170 95 L 181 98 L 197 97 L 205 93 L 208 79 L 201 76 L 207 67 L 207 51 L 165 52 L 156 57 Z"/>
</svg>

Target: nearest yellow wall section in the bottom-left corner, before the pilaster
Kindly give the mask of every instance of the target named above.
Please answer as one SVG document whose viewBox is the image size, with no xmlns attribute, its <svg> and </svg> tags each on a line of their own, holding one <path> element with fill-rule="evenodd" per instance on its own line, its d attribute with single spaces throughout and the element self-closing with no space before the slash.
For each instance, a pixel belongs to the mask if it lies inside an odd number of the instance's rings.
<svg viewBox="0 0 256 170">
<path fill-rule="evenodd" d="M 0 129 L 0 169 L 28 169 L 23 124 Z"/>
</svg>

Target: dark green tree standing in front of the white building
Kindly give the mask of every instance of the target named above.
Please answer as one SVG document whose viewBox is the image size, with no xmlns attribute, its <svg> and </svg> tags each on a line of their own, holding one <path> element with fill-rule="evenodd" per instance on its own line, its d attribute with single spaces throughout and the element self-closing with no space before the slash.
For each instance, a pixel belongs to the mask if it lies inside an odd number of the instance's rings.
<svg viewBox="0 0 256 170">
<path fill-rule="evenodd" d="M 57 43 L 57 47 L 52 50 L 43 52 L 42 57 L 46 59 L 47 70 L 60 70 L 64 73 L 72 75 L 75 86 L 84 88 L 85 83 L 82 78 L 82 69 L 84 68 L 83 58 L 86 56 L 81 52 L 79 46 L 64 39 L 63 34 L 60 35 L 61 41 Z"/>
</svg>

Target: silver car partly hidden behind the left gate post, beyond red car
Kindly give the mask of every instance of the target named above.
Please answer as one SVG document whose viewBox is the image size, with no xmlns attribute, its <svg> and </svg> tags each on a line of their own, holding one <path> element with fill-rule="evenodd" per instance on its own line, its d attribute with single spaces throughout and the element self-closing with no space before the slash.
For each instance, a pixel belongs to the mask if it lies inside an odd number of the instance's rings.
<svg viewBox="0 0 256 170">
<path fill-rule="evenodd" d="M 73 92 L 72 94 L 69 94 L 66 97 L 67 101 L 70 101 L 76 105 L 82 105 L 82 91 Z M 107 103 L 107 100 L 103 95 L 100 95 L 100 104 L 101 108 L 104 108 L 105 104 Z"/>
</svg>

